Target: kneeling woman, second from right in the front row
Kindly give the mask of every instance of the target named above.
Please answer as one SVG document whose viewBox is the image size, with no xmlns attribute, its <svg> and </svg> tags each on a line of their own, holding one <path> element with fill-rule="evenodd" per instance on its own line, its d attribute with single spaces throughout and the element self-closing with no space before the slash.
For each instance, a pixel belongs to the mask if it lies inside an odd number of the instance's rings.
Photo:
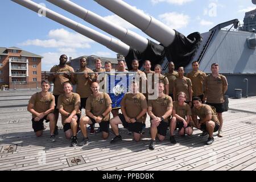
<svg viewBox="0 0 256 182">
<path fill-rule="evenodd" d="M 179 129 L 179 135 L 184 136 L 192 135 L 193 129 L 189 125 L 191 120 L 191 107 L 185 103 L 186 94 L 180 92 L 177 94 L 177 101 L 173 102 L 174 107 L 172 107 L 172 118 L 170 122 L 170 142 L 175 144 L 176 140 L 174 138 L 174 130 Z"/>
</svg>

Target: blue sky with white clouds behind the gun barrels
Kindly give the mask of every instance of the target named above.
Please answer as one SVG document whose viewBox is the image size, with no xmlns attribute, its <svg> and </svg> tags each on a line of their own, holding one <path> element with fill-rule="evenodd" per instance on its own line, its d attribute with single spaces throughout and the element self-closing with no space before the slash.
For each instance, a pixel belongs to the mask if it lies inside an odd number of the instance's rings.
<svg viewBox="0 0 256 182">
<path fill-rule="evenodd" d="M 109 10 L 98 5 L 93 0 L 72 0 L 78 5 L 104 16 L 108 20 L 135 31 L 148 38 L 141 30 L 118 18 Z M 246 11 L 255 9 L 251 0 L 124 0 L 131 6 L 154 16 L 170 28 L 184 35 L 199 31 L 209 31 L 210 28 L 231 19 L 239 19 L 242 23 Z M 56 11 L 68 18 L 84 24 L 94 30 L 98 28 L 84 22 L 75 15 L 52 5 L 44 0 L 34 0 L 44 3 L 48 9 Z M 44 56 L 42 71 L 48 71 L 59 63 L 59 56 L 66 54 L 72 58 L 82 55 L 98 55 L 115 57 L 116 53 L 105 46 L 90 40 L 75 31 L 62 26 L 53 20 L 39 17 L 34 11 L 28 10 L 10 0 L 1 0 L 0 47 L 20 47 L 26 51 Z M 106 34 L 111 36 L 109 34 Z M 150 38 L 151 40 L 154 40 Z"/>
</svg>

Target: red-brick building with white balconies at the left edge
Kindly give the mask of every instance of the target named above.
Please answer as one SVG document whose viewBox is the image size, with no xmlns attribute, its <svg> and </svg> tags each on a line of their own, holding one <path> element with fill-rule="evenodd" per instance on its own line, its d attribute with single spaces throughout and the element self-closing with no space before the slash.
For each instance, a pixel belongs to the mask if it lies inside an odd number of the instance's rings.
<svg viewBox="0 0 256 182">
<path fill-rule="evenodd" d="M 40 86 L 42 58 L 18 47 L 0 47 L 1 88 L 3 85 L 8 85 L 10 89 Z"/>
</svg>

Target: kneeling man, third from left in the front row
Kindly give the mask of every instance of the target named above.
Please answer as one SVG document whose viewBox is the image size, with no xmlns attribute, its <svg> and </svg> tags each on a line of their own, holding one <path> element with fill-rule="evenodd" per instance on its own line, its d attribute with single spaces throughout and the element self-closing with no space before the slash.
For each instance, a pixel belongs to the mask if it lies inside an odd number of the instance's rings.
<svg viewBox="0 0 256 182">
<path fill-rule="evenodd" d="M 84 139 L 79 143 L 83 146 L 88 142 L 86 125 L 98 123 L 102 131 L 102 138 L 109 137 L 109 119 L 112 110 L 112 101 L 107 93 L 100 92 L 97 82 L 93 82 L 91 86 L 93 94 L 86 101 L 86 116 L 80 119 L 80 128 Z"/>
</svg>

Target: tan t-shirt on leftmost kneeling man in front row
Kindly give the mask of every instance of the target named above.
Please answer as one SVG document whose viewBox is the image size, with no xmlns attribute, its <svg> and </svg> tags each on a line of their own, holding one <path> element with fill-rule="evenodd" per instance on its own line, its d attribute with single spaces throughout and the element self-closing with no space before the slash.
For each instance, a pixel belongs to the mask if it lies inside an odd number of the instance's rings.
<svg viewBox="0 0 256 182">
<path fill-rule="evenodd" d="M 35 93 L 28 101 L 29 104 L 33 104 L 33 109 L 38 113 L 44 113 L 51 106 L 55 106 L 55 97 L 51 93 L 47 93 L 46 96 L 42 96 L 42 92 Z M 36 115 L 32 114 L 32 118 L 36 118 Z"/>
</svg>

